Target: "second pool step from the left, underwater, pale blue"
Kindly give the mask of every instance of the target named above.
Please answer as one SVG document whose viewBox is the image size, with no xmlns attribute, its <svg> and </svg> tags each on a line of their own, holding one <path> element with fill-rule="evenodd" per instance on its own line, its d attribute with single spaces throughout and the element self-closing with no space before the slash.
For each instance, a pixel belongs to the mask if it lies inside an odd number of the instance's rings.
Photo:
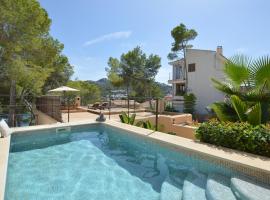
<svg viewBox="0 0 270 200">
<path fill-rule="evenodd" d="M 207 176 L 199 172 L 189 172 L 183 185 L 183 200 L 206 200 Z"/>
</svg>

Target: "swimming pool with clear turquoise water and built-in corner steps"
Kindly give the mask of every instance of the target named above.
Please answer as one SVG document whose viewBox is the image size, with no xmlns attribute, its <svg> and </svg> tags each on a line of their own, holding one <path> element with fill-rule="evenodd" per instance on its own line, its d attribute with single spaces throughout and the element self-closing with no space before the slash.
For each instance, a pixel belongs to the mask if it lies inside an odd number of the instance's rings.
<svg viewBox="0 0 270 200">
<path fill-rule="evenodd" d="M 93 124 L 12 135 L 5 199 L 244 199 L 243 181 L 230 168 Z M 269 199 L 261 189 L 255 197 Z"/>
</svg>

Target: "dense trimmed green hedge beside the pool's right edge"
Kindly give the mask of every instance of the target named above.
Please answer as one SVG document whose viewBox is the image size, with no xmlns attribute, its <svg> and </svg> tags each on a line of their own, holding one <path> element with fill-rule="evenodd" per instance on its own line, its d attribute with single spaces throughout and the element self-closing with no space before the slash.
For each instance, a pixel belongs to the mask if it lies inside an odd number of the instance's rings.
<svg viewBox="0 0 270 200">
<path fill-rule="evenodd" d="M 202 123 L 196 138 L 218 146 L 270 157 L 270 129 L 246 122 L 209 121 Z"/>
</svg>

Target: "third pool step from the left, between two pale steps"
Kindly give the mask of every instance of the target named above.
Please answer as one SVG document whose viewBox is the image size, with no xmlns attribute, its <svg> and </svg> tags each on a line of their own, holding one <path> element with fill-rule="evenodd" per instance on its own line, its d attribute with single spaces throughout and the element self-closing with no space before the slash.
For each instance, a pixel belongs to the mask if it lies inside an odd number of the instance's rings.
<svg viewBox="0 0 270 200">
<path fill-rule="evenodd" d="M 231 179 L 221 174 L 209 174 L 206 184 L 207 200 L 236 200 L 231 188 Z"/>
</svg>

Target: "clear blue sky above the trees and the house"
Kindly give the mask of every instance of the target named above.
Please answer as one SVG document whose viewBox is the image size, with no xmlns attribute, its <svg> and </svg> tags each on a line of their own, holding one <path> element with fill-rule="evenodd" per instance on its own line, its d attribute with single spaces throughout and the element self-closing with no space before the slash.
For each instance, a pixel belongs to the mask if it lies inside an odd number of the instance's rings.
<svg viewBox="0 0 270 200">
<path fill-rule="evenodd" d="M 194 28 L 194 48 L 261 56 L 270 53 L 268 0 L 40 0 L 52 19 L 51 34 L 65 45 L 74 77 L 106 77 L 110 56 L 119 58 L 141 46 L 158 54 L 162 67 L 157 81 L 171 72 L 167 54 L 170 31 L 179 23 Z"/>
</svg>

